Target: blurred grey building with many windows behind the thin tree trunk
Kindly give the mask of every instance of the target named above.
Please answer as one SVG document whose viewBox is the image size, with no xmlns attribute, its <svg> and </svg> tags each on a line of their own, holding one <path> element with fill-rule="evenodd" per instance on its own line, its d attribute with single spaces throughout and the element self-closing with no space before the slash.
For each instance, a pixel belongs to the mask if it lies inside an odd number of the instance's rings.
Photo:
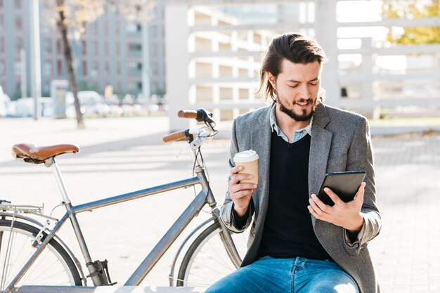
<svg viewBox="0 0 440 293">
<path fill-rule="evenodd" d="M 0 85 L 12 99 L 30 96 L 28 1 L 0 0 Z M 51 81 L 67 79 L 67 70 L 60 34 L 45 19 L 48 13 L 44 9 L 40 5 L 41 96 L 48 97 Z M 163 13 L 164 2 L 159 0 L 147 34 L 150 93 L 160 96 L 165 91 Z M 72 39 L 71 44 L 79 90 L 103 93 L 110 85 L 120 95 L 142 93 L 145 46 L 141 23 L 127 22 L 124 15 L 109 8 L 96 22 L 87 24 L 81 39 Z"/>
</svg>

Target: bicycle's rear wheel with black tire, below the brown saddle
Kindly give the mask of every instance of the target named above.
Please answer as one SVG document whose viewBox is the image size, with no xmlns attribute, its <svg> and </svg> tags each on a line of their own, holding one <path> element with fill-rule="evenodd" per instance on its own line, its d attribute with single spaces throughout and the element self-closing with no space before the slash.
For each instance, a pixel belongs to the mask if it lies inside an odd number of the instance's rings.
<svg viewBox="0 0 440 293">
<path fill-rule="evenodd" d="M 40 229 L 27 223 L 19 221 L 0 219 L 0 287 L 1 292 L 9 285 L 9 282 L 15 278 L 22 266 L 33 252 L 37 249 L 32 246 L 34 237 L 37 236 Z M 47 234 L 43 233 L 43 238 Z M 9 251 L 7 249 L 8 243 Z M 17 255 L 14 254 L 16 249 L 20 249 Z M 6 255 L 6 252 L 9 252 Z M 8 263 L 5 270 L 5 265 Z M 49 265 L 50 264 L 50 265 Z M 59 270 L 60 273 L 58 273 Z M 12 274 L 11 274 L 12 272 Z M 33 277 L 33 278 L 32 278 Z M 37 280 L 37 278 L 39 278 Z M 22 279 L 15 285 L 75 285 L 82 286 L 82 279 L 79 275 L 75 262 L 72 261 L 70 255 L 65 251 L 63 246 L 56 240 L 51 239 L 37 260 L 32 264 L 30 269 L 25 273 Z"/>
</svg>

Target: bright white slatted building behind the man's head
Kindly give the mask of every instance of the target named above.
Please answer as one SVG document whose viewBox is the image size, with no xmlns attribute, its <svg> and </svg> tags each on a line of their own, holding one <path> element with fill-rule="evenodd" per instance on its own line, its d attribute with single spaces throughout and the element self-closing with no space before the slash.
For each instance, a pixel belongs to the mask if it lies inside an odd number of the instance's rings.
<svg viewBox="0 0 440 293">
<path fill-rule="evenodd" d="M 188 40 L 188 53 L 167 47 L 171 128 L 180 129 L 185 123 L 173 117 L 179 108 L 203 106 L 228 129 L 232 117 L 260 107 L 261 98 L 254 92 L 261 56 L 268 41 L 283 32 L 308 34 L 325 49 L 329 58 L 322 82 L 326 103 L 375 118 L 439 117 L 440 44 L 387 41 L 389 32 L 402 27 L 440 27 L 439 14 L 382 19 L 384 4 L 167 0 L 166 43 Z M 170 70 L 175 65 L 181 72 Z M 187 79 L 179 78 L 186 72 Z M 188 93 L 188 99 L 183 93 Z"/>
</svg>

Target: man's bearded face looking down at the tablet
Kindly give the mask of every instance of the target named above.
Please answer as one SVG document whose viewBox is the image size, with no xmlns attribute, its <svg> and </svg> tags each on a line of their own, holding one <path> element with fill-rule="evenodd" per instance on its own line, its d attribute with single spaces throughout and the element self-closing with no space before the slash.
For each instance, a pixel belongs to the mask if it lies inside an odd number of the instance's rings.
<svg viewBox="0 0 440 293">
<path fill-rule="evenodd" d="M 321 65 L 292 63 L 287 59 L 281 64 L 278 77 L 268 73 L 268 79 L 277 93 L 277 107 L 295 121 L 308 121 L 315 112 Z"/>
</svg>

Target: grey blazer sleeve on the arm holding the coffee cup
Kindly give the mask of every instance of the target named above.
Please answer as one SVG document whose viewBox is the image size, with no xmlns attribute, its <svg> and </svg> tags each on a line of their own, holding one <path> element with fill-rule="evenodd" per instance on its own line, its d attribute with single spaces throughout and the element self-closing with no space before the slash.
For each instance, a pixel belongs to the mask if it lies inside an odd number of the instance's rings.
<svg viewBox="0 0 440 293">
<path fill-rule="evenodd" d="M 237 133 L 235 130 L 237 119 L 234 120 L 233 126 L 232 126 L 232 133 L 231 133 L 231 149 L 230 149 L 230 157 L 228 160 L 229 167 L 233 168 L 235 167 L 235 164 L 233 163 L 233 157 L 237 152 L 240 152 L 238 148 L 238 142 L 237 142 Z M 228 182 L 231 180 L 231 176 L 228 176 Z M 226 228 L 231 230 L 233 233 L 242 233 L 244 230 L 247 229 L 247 227 L 250 226 L 250 223 L 252 222 L 252 215 L 254 214 L 254 206 L 252 204 L 252 199 L 250 201 L 250 205 L 247 208 L 247 221 L 245 226 L 238 228 L 235 224 L 235 217 L 234 213 L 232 212 L 233 209 L 233 201 L 231 200 L 231 196 L 229 195 L 228 191 L 226 191 L 226 197 L 224 201 L 223 207 L 221 207 L 220 210 L 220 218 L 221 221 L 225 224 Z"/>
</svg>

